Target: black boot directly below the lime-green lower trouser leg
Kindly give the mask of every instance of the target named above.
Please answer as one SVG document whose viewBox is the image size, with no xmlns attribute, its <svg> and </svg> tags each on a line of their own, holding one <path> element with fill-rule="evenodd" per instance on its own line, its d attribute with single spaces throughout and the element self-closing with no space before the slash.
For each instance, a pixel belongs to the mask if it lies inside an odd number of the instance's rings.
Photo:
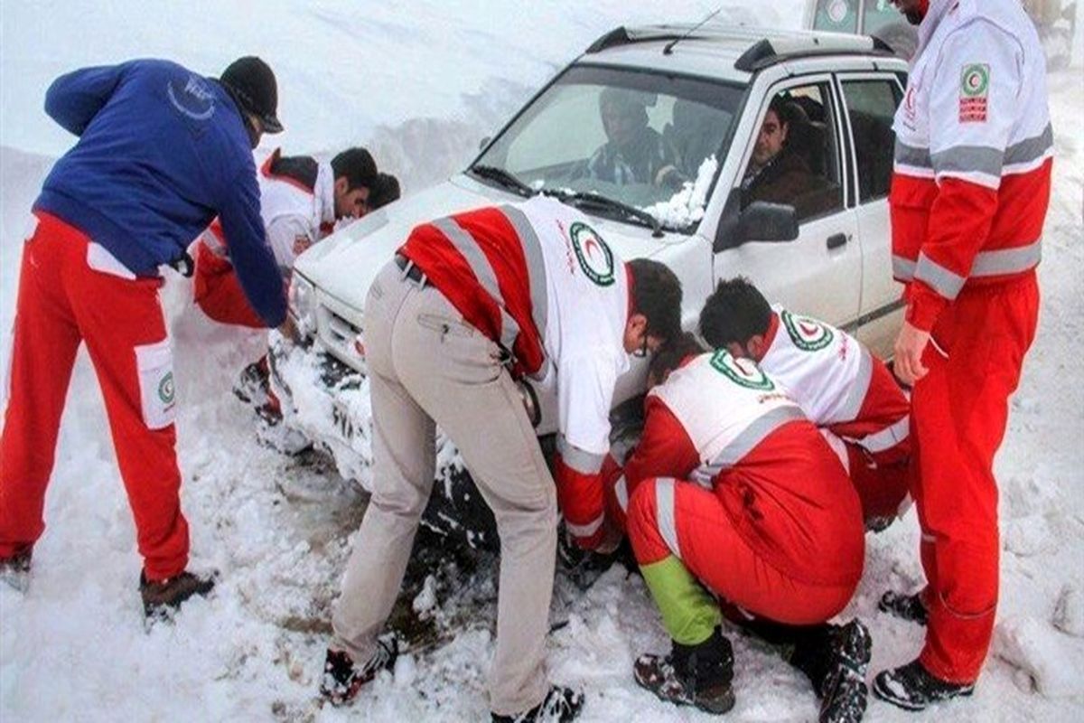
<svg viewBox="0 0 1084 723">
<path fill-rule="evenodd" d="M 699 645 L 674 643 L 666 657 L 640 656 L 633 674 L 661 700 L 717 714 L 734 707 L 734 650 L 720 628 Z"/>
</svg>

